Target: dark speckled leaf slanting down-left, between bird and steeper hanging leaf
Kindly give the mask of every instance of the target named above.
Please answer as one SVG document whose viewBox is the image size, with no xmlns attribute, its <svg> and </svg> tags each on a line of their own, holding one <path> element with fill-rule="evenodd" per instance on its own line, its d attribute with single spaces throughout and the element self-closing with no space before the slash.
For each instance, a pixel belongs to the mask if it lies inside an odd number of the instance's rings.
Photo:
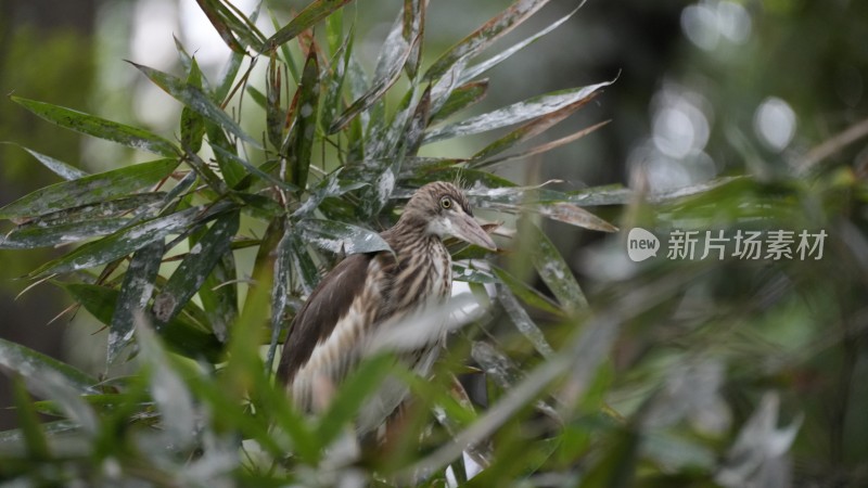
<svg viewBox="0 0 868 488">
<path fill-rule="evenodd" d="M 238 232 L 237 211 L 218 217 L 202 239 L 188 252 L 178 269 L 171 273 L 159 295 L 154 298 L 154 318 L 159 324 L 170 322 L 208 278 Z"/>
</svg>

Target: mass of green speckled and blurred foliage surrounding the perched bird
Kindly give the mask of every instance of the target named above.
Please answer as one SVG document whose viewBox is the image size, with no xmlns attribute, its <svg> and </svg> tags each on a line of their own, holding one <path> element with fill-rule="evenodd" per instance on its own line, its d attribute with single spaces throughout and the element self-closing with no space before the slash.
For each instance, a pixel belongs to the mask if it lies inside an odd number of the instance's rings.
<svg viewBox="0 0 868 488">
<path fill-rule="evenodd" d="M 550 29 L 483 61 L 480 54 L 545 1 L 515 2 L 423 69 L 425 2 L 407 0 L 372 74 L 355 55 L 355 30 L 341 10 L 347 1 L 315 1 L 289 22 L 275 18 L 271 35 L 256 22 L 270 12 L 199 3 L 233 51 L 220 79 L 206 79 L 181 46 L 181 77 L 135 65 L 183 104 L 175 138 L 12 97 L 56 125 L 157 158 L 88 175 L 23 149 L 62 181 L 0 208 L 10 224 L 0 246 L 75 244 L 30 278 L 64 288 L 108 328 L 108 364 L 135 358 L 138 369 L 91 377 L 0 342 L 21 425 L 0 434 L 2 479 L 867 481 L 868 447 L 859 440 L 866 424 L 856 419 L 868 391 L 855 381 L 866 365 L 868 317 L 864 175 L 832 168 L 774 182 L 732 176 L 653 194 L 520 187 L 493 168 L 595 130 L 528 142 L 610 85 L 462 117 L 485 95 L 487 69 Z M 264 82 L 253 79 L 254 64 L 266 66 Z M 259 119 L 250 120 L 252 113 Z M 508 126 L 516 128 L 470 156 L 419 155 L 432 142 Z M 456 279 L 488 301 L 487 313 L 451 337 L 433 381 L 376 357 L 324 412 L 295 411 L 272 385 L 271 363 L 319 270 L 346 253 L 385 248 L 376 231 L 394 222 L 397 204 L 424 182 L 456 179 L 474 207 L 507 220 L 495 232 L 509 252 L 456 249 Z M 667 259 L 661 249 L 635 264 L 625 235 L 612 234 L 590 264 L 609 279 L 586 296 L 539 228 L 548 218 L 616 230 L 583 207 L 664 241 L 674 230 L 828 237 L 821 259 L 739 259 L 730 244 L 725 259 L 700 259 L 700 247 L 693 259 Z M 256 249 L 250 266 L 237 261 L 246 248 Z M 475 371 L 463 365 L 468 357 Z M 387 374 L 404 378 L 417 401 L 387 446 L 360 452 L 348 426 Z"/>
</svg>

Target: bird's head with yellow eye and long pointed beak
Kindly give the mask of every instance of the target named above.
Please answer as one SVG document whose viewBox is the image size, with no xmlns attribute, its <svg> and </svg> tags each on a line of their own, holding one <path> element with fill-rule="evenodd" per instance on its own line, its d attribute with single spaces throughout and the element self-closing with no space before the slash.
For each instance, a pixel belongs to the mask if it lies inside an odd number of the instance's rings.
<svg viewBox="0 0 868 488">
<path fill-rule="evenodd" d="M 473 218 L 468 198 L 451 183 L 435 181 L 417 190 L 407 203 L 401 220 L 423 226 L 424 232 L 441 239 L 451 235 L 480 247 L 497 249 L 492 237 Z"/>
</svg>

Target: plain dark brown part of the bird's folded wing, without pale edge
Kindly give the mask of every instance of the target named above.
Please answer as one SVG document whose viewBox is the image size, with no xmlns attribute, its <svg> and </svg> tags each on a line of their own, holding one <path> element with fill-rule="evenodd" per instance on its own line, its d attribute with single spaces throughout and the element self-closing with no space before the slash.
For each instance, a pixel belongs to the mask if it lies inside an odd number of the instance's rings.
<svg viewBox="0 0 868 488">
<path fill-rule="evenodd" d="M 317 344 L 324 341 L 334 325 L 349 309 L 356 295 L 362 292 L 368 266 L 375 254 L 354 254 L 346 257 L 310 294 L 295 314 L 283 345 L 278 378 L 291 383 L 307 362 Z"/>
</svg>

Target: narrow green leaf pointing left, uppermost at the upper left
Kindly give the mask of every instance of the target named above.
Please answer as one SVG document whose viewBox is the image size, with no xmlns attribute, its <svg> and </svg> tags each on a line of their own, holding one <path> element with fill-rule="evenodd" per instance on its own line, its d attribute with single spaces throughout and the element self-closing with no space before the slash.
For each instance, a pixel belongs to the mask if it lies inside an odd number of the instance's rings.
<svg viewBox="0 0 868 488">
<path fill-rule="evenodd" d="M 175 144 L 144 129 L 126 126 L 50 103 L 27 100 L 21 97 L 10 98 L 13 102 L 24 106 L 39 117 L 61 127 L 165 157 L 178 155 L 178 149 Z"/>
</svg>

